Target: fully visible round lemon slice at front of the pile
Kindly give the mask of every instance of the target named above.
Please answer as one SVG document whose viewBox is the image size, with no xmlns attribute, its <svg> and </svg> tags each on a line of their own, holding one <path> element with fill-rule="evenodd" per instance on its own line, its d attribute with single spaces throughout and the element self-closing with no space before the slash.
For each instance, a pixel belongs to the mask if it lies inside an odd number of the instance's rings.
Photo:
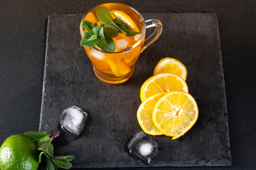
<svg viewBox="0 0 256 170">
<path fill-rule="evenodd" d="M 196 122 L 198 108 L 194 98 L 181 91 L 169 92 L 156 103 L 152 120 L 154 125 L 172 139 L 184 135 Z"/>
</svg>

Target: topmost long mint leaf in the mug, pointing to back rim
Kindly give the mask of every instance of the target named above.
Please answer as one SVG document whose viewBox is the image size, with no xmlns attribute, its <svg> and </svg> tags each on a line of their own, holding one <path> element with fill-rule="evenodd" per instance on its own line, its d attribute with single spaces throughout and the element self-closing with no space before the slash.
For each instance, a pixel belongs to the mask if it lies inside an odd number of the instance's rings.
<svg viewBox="0 0 256 170">
<path fill-rule="evenodd" d="M 98 8 L 97 18 L 102 23 L 104 23 L 106 25 L 114 26 L 115 28 L 117 28 L 118 30 L 123 32 L 123 30 L 115 24 L 113 17 L 111 16 L 110 12 L 108 11 L 108 9 L 106 7 Z"/>
</svg>

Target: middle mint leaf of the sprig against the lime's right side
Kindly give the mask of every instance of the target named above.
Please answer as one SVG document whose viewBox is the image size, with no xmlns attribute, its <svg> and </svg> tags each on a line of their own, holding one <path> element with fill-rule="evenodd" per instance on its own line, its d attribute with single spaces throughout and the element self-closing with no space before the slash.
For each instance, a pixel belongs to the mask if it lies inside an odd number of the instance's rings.
<svg viewBox="0 0 256 170">
<path fill-rule="evenodd" d="M 37 150 L 44 151 L 50 156 L 53 156 L 53 144 L 51 144 L 53 138 L 49 136 L 45 136 L 44 138 L 40 139 L 37 143 Z"/>
</svg>

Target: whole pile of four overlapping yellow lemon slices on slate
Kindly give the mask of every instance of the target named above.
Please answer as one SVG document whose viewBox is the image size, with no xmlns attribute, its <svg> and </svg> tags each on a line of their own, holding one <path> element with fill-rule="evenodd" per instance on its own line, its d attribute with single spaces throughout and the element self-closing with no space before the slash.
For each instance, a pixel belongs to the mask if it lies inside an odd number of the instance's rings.
<svg viewBox="0 0 256 170">
<path fill-rule="evenodd" d="M 185 66 L 173 58 L 161 59 L 151 76 L 141 86 L 138 122 L 150 135 L 177 139 L 196 122 L 198 108 L 188 93 Z"/>
</svg>

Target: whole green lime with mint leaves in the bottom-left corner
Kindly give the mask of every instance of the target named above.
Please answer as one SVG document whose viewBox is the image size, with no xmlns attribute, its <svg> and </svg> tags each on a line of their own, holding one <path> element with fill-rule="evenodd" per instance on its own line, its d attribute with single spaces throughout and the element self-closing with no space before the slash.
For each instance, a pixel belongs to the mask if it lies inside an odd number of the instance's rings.
<svg viewBox="0 0 256 170">
<path fill-rule="evenodd" d="M 53 138 L 60 132 L 26 132 L 9 136 L 0 147 L 1 170 L 70 169 L 74 156 L 54 156 Z"/>
</svg>

